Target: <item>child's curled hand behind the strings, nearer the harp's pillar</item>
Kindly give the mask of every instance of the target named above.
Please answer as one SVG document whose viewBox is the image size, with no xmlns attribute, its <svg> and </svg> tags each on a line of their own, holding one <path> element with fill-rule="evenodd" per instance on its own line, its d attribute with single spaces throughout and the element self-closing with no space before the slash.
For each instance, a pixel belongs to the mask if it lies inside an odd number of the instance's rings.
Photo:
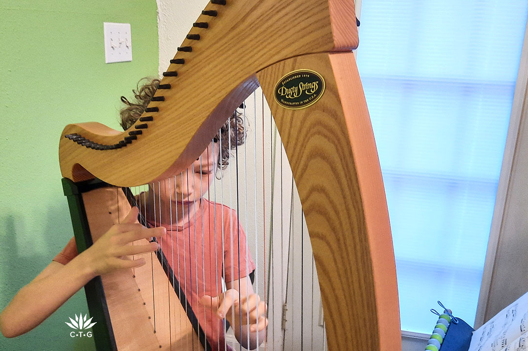
<svg viewBox="0 0 528 351">
<path fill-rule="evenodd" d="M 249 331 L 253 332 L 268 326 L 266 318 L 268 306 L 260 300 L 257 294 L 240 296 L 238 290 L 229 289 L 216 297 L 204 295 L 199 302 L 212 309 L 216 317 L 220 319 L 225 317 L 233 328 L 249 325 Z"/>
</svg>

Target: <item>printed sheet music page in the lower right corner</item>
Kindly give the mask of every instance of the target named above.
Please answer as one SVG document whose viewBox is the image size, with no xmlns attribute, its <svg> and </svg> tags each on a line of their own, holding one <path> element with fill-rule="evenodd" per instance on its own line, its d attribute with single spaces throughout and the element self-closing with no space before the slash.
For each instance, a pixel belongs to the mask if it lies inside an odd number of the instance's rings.
<svg viewBox="0 0 528 351">
<path fill-rule="evenodd" d="M 468 351 L 525 351 L 528 292 L 473 332 Z"/>
</svg>

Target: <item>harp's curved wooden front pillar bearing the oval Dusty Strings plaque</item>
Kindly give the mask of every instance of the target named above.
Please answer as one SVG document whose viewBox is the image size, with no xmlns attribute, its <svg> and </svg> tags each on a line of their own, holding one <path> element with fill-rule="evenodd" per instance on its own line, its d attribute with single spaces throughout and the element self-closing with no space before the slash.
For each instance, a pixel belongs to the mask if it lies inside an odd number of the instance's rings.
<svg viewBox="0 0 528 351">
<path fill-rule="evenodd" d="M 322 74 L 318 102 L 273 98 L 287 73 Z M 306 216 L 329 350 L 401 348 L 394 253 L 374 135 L 353 53 L 291 58 L 259 72 Z M 270 103 L 271 102 L 271 103 Z"/>
</svg>

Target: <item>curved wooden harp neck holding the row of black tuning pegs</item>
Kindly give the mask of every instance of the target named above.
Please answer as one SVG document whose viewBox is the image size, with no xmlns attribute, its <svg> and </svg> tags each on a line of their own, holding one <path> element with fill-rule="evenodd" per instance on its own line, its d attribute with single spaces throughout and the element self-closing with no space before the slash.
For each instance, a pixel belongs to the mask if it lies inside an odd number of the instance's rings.
<svg viewBox="0 0 528 351">
<path fill-rule="evenodd" d="M 183 41 L 192 52 L 178 52 L 175 58 L 185 64 L 168 66 L 167 71 L 177 71 L 178 76 L 163 78 L 162 84 L 172 88 L 156 93 L 165 101 L 150 103 L 159 112 L 144 114 L 154 118 L 148 129 L 125 148 L 97 151 L 64 135 L 77 133 L 93 142 L 115 144 L 128 133 L 97 123 L 66 126 L 59 149 L 63 177 L 138 186 L 177 173 L 196 159 L 227 116 L 256 89 L 256 72 L 288 57 L 357 45 L 353 8 L 351 0 L 332 0 L 331 5 L 328 0 L 209 4 L 206 9 L 218 11 L 218 16 L 200 15 L 197 22 L 209 22 L 209 28 L 193 27 L 190 34 L 200 34 L 200 40 Z"/>
</svg>

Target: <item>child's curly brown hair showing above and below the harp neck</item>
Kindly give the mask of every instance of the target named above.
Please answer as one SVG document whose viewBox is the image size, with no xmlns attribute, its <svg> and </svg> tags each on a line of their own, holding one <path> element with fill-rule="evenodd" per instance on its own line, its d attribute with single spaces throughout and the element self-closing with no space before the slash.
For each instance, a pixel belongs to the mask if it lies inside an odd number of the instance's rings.
<svg viewBox="0 0 528 351">
<path fill-rule="evenodd" d="M 142 81 L 145 81 L 143 84 Z M 132 90 L 134 94 L 134 102 L 130 102 L 125 96 L 121 96 L 121 101 L 125 106 L 119 111 L 121 117 L 119 124 L 124 130 L 130 128 L 139 117 L 145 112 L 154 93 L 158 89 L 159 79 L 143 78 L 137 83 L 136 90 Z M 246 140 L 246 131 L 244 130 L 244 119 L 240 112 L 234 111 L 229 119 L 222 125 L 220 131 L 214 137 L 214 141 L 221 140 L 222 152 L 218 156 L 218 168 L 224 170 L 228 167 L 230 150 L 229 140 L 231 139 L 231 150 L 242 145 Z"/>
</svg>

